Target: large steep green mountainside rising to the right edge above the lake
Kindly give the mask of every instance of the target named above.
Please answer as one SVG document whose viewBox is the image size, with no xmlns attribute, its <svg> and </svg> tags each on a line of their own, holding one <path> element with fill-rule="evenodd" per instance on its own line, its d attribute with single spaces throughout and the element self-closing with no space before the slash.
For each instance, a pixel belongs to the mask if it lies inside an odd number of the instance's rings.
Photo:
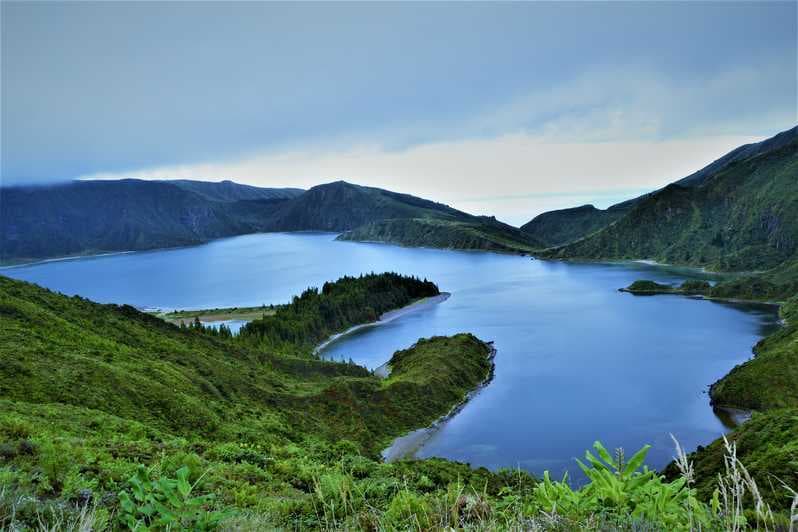
<svg viewBox="0 0 798 532">
<path fill-rule="evenodd" d="M 731 153 L 735 155 L 727 155 L 725 164 L 712 163 L 714 170 L 704 169 L 637 198 L 603 228 L 593 229 L 597 213 L 590 211 L 594 219 L 585 223 L 591 229 L 584 237 L 542 255 L 653 259 L 727 271 L 765 270 L 794 260 L 798 251 L 796 129 Z M 558 233 L 552 234 L 544 236 L 553 241 Z M 574 236 L 571 232 L 570 237 Z"/>
</svg>

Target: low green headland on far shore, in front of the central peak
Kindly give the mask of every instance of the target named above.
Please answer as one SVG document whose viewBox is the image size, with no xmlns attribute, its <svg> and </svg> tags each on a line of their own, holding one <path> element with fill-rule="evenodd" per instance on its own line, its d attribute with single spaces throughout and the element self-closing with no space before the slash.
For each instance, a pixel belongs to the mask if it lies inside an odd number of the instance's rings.
<svg viewBox="0 0 798 532">
<path fill-rule="evenodd" d="M 435 218 L 383 220 L 347 231 L 338 239 L 387 242 L 402 246 L 509 252 L 532 251 L 543 247 L 541 243 L 515 227 L 490 218 L 462 221 Z"/>
</svg>

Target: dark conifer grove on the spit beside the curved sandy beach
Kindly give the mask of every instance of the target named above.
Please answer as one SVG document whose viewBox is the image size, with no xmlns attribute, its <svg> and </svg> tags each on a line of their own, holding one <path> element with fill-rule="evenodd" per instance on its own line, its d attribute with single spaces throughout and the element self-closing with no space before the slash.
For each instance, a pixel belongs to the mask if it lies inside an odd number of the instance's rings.
<svg viewBox="0 0 798 532">
<path fill-rule="evenodd" d="M 370 273 L 308 288 L 272 316 L 241 328 L 244 341 L 271 346 L 293 344 L 307 348 L 360 323 L 376 321 L 393 309 L 440 294 L 426 279 L 397 273 Z"/>
</svg>

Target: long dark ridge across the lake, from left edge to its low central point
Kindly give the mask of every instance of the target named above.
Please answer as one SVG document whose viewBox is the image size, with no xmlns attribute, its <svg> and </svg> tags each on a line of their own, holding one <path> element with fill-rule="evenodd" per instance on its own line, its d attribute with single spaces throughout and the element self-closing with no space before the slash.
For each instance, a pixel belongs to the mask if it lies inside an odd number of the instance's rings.
<svg viewBox="0 0 798 532">
<path fill-rule="evenodd" d="M 438 220 L 398 239 L 388 220 Z M 344 232 L 349 240 L 403 245 L 528 251 L 534 238 L 493 218 L 446 205 L 338 181 L 303 191 L 232 181 L 74 181 L 0 189 L 0 262 L 200 244 L 267 231 Z M 389 234 L 390 233 L 390 234 Z M 358 237 L 360 235 L 362 238 Z"/>
</svg>

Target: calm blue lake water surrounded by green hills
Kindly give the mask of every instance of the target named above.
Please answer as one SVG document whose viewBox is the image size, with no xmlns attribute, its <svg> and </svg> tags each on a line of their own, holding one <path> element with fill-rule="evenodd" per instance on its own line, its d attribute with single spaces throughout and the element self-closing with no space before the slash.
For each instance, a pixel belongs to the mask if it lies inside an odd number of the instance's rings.
<svg viewBox="0 0 798 532">
<path fill-rule="evenodd" d="M 577 471 L 594 440 L 648 463 L 726 429 L 706 389 L 751 356 L 777 323 L 773 307 L 617 289 L 635 279 L 675 282 L 690 270 L 576 264 L 482 252 L 336 242 L 331 234 L 262 234 L 206 245 L 5 268 L 3 275 L 95 301 L 161 309 L 283 303 L 345 274 L 427 277 L 452 296 L 330 344 L 324 355 L 369 368 L 420 337 L 470 331 L 492 340 L 489 386 L 417 451 L 490 468 Z"/>
</svg>

